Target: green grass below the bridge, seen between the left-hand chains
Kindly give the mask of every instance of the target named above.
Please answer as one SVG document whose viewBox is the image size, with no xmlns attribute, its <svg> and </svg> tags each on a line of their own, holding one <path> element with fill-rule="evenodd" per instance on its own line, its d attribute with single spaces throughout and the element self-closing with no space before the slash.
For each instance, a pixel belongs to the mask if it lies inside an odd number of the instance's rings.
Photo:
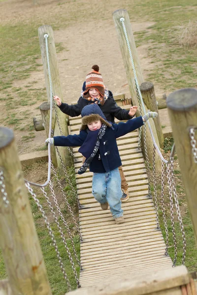
<svg viewBox="0 0 197 295">
<path fill-rule="evenodd" d="M 29 177 L 31 177 L 31 174 L 35 170 L 39 173 L 38 179 L 39 179 L 39 177 L 40 177 L 40 179 L 44 179 L 44 177 L 46 177 L 46 171 L 47 171 L 46 163 L 35 163 L 31 167 L 25 169 L 24 170 L 25 177 L 27 177 L 29 179 Z M 72 182 L 73 187 L 76 189 L 74 169 L 73 168 L 68 169 L 67 173 L 68 173 L 68 175 L 70 177 L 70 180 Z M 61 181 L 64 182 L 64 178 Z M 65 201 L 64 201 L 63 197 L 60 194 L 57 182 L 54 179 L 53 175 L 52 175 L 52 182 L 54 184 L 54 190 L 55 190 L 55 194 L 56 194 L 59 206 L 61 207 L 61 211 L 64 214 L 64 217 L 66 217 L 66 222 L 67 222 L 68 227 L 69 227 L 69 229 L 71 231 L 71 234 L 73 236 L 74 246 L 75 246 L 75 250 L 77 252 L 78 259 L 80 260 L 79 236 L 77 235 L 76 229 L 73 226 L 72 219 L 70 218 L 70 215 L 68 214 L 68 211 L 66 210 L 67 207 L 65 205 Z M 65 185 L 67 186 L 67 183 L 65 183 Z M 36 194 L 37 198 L 39 199 L 40 204 L 44 208 L 44 210 L 45 210 L 45 212 L 46 212 L 46 214 L 47 214 L 47 216 L 49 218 L 51 228 L 53 230 L 55 239 L 57 241 L 60 256 L 63 259 L 63 264 L 64 264 L 64 267 L 66 269 L 66 273 L 67 273 L 67 276 L 69 278 L 70 284 L 72 286 L 72 290 L 74 290 L 77 287 L 75 277 L 74 277 L 74 274 L 73 274 L 73 271 L 72 271 L 72 268 L 71 268 L 71 265 L 70 265 L 70 262 L 69 262 L 68 255 L 66 253 L 65 245 L 62 242 L 62 238 L 60 236 L 58 227 L 57 227 L 54 219 L 51 217 L 51 211 L 48 208 L 47 202 L 46 202 L 43 194 L 41 193 L 40 189 L 33 187 L 33 191 Z M 52 198 L 51 198 L 51 195 L 49 193 L 48 186 L 45 188 L 45 191 L 47 192 L 47 194 L 48 194 L 48 196 L 50 198 L 50 201 L 52 202 Z M 69 197 L 67 198 L 68 203 L 72 207 L 72 209 L 74 211 L 74 214 L 76 215 L 76 218 L 78 220 L 78 209 L 77 209 L 74 194 L 69 189 L 69 190 L 67 190 L 67 195 L 69 195 Z M 48 273 L 52 293 L 53 293 L 53 295 L 64 295 L 68 291 L 68 289 L 67 289 L 67 285 L 66 285 L 66 281 L 64 279 L 63 273 L 62 273 L 61 268 L 59 266 L 56 251 L 55 251 L 55 249 L 53 247 L 51 237 L 50 237 L 49 232 L 48 232 L 48 230 L 46 228 L 45 222 L 44 222 L 44 220 L 42 218 L 42 214 L 38 210 L 33 198 L 31 197 L 31 195 L 29 197 L 30 197 L 30 204 L 31 204 L 32 213 L 33 213 L 33 217 L 34 217 L 34 222 L 35 222 L 35 226 L 36 226 L 36 232 L 37 232 L 37 235 L 39 237 L 40 246 L 41 246 L 41 250 L 42 250 L 42 253 L 43 253 L 44 262 L 45 262 L 45 266 L 46 266 L 46 269 L 47 269 L 47 273 Z M 54 209 L 55 209 L 55 205 L 54 205 L 53 202 L 52 202 L 52 207 L 54 207 Z M 57 211 L 56 211 L 56 216 L 58 218 L 60 226 L 63 229 L 64 235 L 65 235 L 65 238 L 66 238 L 66 243 L 67 243 L 68 248 L 69 248 L 69 250 L 71 252 L 71 255 L 72 255 L 72 258 L 73 258 L 73 261 L 74 261 L 74 265 L 75 265 L 76 270 L 77 270 L 77 273 L 79 274 L 79 266 L 78 266 L 78 264 L 76 262 L 76 259 L 74 258 L 74 255 L 73 255 L 73 249 L 72 249 L 72 246 L 71 246 L 70 238 L 67 235 L 65 226 L 64 226 L 61 218 L 59 217 Z M 4 279 L 6 277 L 7 277 L 7 274 L 6 274 L 6 271 L 5 271 L 5 266 L 4 266 L 4 263 L 3 263 L 2 254 L 0 253 L 0 279 Z"/>
</svg>

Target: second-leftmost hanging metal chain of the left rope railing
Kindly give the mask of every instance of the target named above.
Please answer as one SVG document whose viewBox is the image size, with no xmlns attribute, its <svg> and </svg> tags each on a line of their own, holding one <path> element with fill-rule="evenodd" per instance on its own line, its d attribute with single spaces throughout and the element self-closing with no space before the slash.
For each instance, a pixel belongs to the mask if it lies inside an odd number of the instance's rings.
<svg viewBox="0 0 197 295">
<path fill-rule="evenodd" d="M 47 204 L 48 204 L 48 206 L 49 206 L 49 208 L 50 208 L 50 210 L 51 210 L 51 213 L 53 214 L 53 217 L 54 217 L 54 219 L 55 219 L 55 222 L 56 222 L 57 227 L 58 227 L 58 229 L 59 229 L 59 232 L 60 232 L 60 234 L 61 234 L 61 237 L 62 237 L 63 243 L 64 243 L 64 245 L 65 245 L 66 252 L 67 252 L 67 255 L 68 255 L 68 258 L 69 258 L 70 264 L 71 264 L 71 266 L 72 266 L 72 270 L 73 270 L 73 272 L 74 272 L 74 276 L 75 276 L 75 279 L 76 279 L 76 282 L 77 282 L 77 286 L 78 286 L 78 288 L 79 288 L 79 287 L 81 287 L 81 286 L 80 286 L 79 279 L 78 279 L 78 276 L 77 276 L 76 268 L 75 268 L 74 263 L 73 263 L 73 260 L 72 260 L 71 253 L 70 253 L 69 248 L 68 248 L 67 243 L 66 243 L 66 238 L 65 238 L 65 236 L 64 236 L 63 230 L 62 230 L 62 228 L 61 228 L 61 226 L 60 226 L 60 223 L 58 222 L 58 218 L 56 217 L 55 211 L 54 211 L 54 209 L 53 209 L 53 207 L 52 207 L 52 205 L 51 205 L 51 202 L 50 202 L 50 200 L 49 200 L 49 197 L 47 196 L 47 193 L 46 193 L 45 190 L 44 190 L 44 187 L 41 188 L 41 191 L 43 192 L 43 195 L 44 195 L 44 197 L 45 197 L 45 199 L 46 199 L 46 201 L 47 201 Z"/>
</svg>

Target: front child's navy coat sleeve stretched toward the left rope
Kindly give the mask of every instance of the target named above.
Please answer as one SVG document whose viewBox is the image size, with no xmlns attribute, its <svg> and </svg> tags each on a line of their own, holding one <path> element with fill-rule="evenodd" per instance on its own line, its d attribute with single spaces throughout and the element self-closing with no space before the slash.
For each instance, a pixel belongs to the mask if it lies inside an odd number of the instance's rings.
<svg viewBox="0 0 197 295">
<path fill-rule="evenodd" d="M 78 135 L 54 136 L 54 146 L 58 147 L 81 147 L 87 137 L 86 131 L 81 131 Z"/>
</svg>

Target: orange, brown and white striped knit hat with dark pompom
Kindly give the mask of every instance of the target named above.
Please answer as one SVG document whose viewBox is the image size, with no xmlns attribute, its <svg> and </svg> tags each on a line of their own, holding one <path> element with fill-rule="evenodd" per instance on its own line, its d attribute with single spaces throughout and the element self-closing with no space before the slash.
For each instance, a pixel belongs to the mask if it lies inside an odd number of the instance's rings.
<svg viewBox="0 0 197 295">
<path fill-rule="evenodd" d="M 100 95 L 104 96 L 104 84 L 102 76 L 99 73 L 99 66 L 97 64 L 92 66 L 93 71 L 86 76 L 86 90 L 83 92 L 83 97 L 89 96 L 89 89 L 96 88 Z"/>
</svg>

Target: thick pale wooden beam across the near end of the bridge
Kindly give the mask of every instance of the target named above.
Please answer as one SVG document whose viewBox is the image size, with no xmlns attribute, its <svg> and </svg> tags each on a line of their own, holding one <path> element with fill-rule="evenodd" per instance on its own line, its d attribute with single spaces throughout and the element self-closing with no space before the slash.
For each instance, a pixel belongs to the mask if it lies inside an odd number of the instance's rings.
<svg viewBox="0 0 197 295">
<path fill-rule="evenodd" d="M 163 291 L 163 294 L 166 294 L 166 289 L 170 290 L 171 288 L 179 287 L 182 285 L 186 285 L 189 283 L 190 278 L 187 272 L 187 268 L 185 266 L 177 266 L 175 268 L 166 268 L 161 269 L 160 271 L 155 270 L 150 273 L 147 273 L 144 276 L 145 271 L 139 272 L 138 277 L 134 277 L 135 279 L 131 280 L 131 277 L 125 280 L 116 280 L 113 281 L 111 284 L 103 284 L 102 279 L 102 289 L 98 288 L 89 288 L 89 289 L 82 289 L 76 290 L 72 292 L 72 295 L 118 295 L 120 294 L 121 290 L 124 290 L 125 295 L 142 295 L 142 294 L 156 294 L 159 291 Z M 106 277 L 108 279 L 108 277 Z M 117 277 L 118 279 L 118 277 Z M 96 281 L 100 284 L 99 280 Z M 85 286 L 85 282 L 84 282 Z M 91 283 L 87 281 L 86 286 L 91 286 Z M 80 291 L 80 292 L 79 292 Z M 82 291 L 82 292 L 81 292 Z M 84 293 L 83 293 L 84 291 Z M 159 293 L 158 293 L 159 294 Z M 168 293 L 174 294 L 174 293 Z M 177 293 L 181 295 L 180 293 Z M 161 295 L 161 293 L 160 293 Z"/>
</svg>

